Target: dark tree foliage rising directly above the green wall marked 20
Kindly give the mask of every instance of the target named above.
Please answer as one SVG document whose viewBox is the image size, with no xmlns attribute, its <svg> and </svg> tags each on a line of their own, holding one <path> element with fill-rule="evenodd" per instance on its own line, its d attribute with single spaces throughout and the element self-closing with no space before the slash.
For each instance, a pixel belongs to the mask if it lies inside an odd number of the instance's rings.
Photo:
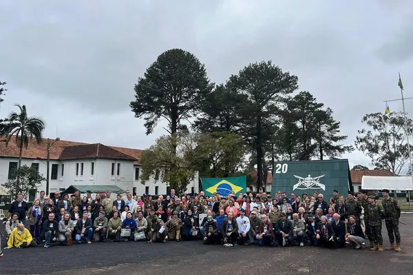
<svg viewBox="0 0 413 275">
<path fill-rule="evenodd" d="M 339 135 L 340 123 L 332 118 L 332 110 L 324 110 L 310 92 L 300 92 L 287 101 L 282 112 L 278 152 L 284 159 L 310 160 L 314 157 L 335 159 L 352 146 L 340 144 L 347 136 Z"/>
</svg>

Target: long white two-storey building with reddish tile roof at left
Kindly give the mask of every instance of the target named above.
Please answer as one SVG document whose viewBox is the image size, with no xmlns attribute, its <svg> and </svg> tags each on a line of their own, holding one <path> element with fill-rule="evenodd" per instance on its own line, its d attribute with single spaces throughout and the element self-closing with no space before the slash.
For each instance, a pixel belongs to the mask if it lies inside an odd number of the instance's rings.
<svg viewBox="0 0 413 275">
<path fill-rule="evenodd" d="M 160 181 L 159 173 L 141 183 L 139 159 L 142 150 L 62 140 L 50 140 L 50 144 L 50 194 L 63 191 L 70 185 L 116 185 L 138 195 L 169 194 L 169 186 Z M 10 142 L 8 147 L 0 143 L 0 183 L 10 179 L 18 161 L 16 143 Z M 35 167 L 46 178 L 47 139 L 43 139 L 41 144 L 30 140 L 28 149 L 23 148 L 21 165 Z M 29 201 L 33 201 L 45 188 L 44 181 L 37 190 L 30 192 Z M 198 192 L 198 174 L 187 186 L 187 192 Z"/>
</svg>

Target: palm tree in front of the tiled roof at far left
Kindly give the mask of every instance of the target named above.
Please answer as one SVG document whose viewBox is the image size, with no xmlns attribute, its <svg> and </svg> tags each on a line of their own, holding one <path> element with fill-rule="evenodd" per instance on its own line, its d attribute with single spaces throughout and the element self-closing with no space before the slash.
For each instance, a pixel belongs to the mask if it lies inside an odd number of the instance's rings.
<svg viewBox="0 0 413 275">
<path fill-rule="evenodd" d="M 36 139 L 40 144 L 42 141 L 42 132 L 45 129 L 45 123 L 36 117 L 29 117 L 25 105 L 16 104 L 20 109 L 20 113 L 12 112 L 6 119 L 6 123 L 1 127 L 1 134 L 6 136 L 6 146 L 10 140 L 15 137 L 17 147 L 19 147 L 19 169 L 21 167 L 21 156 L 23 154 L 23 147 L 28 148 L 29 138 Z M 17 175 L 17 182 L 19 183 L 19 176 Z"/>
</svg>

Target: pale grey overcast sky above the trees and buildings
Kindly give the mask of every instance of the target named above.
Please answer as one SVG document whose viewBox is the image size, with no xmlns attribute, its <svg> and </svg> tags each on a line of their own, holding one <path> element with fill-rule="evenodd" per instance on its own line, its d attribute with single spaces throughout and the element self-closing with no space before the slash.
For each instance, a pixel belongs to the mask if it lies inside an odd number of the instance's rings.
<svg viewBox="0 0 413 275">
<path fill-rule="evenodd" d="M 9 89 L 0 116 L 25 104 L 50 138 L 149 147 L 166 134 L 162 123 L 146 136 L 129 103 L 138 77 L 171 48 L 195 54 L 215 83 L 272 60 L 332 108 L 352 144 L 364 114 L 400 98 L 399 72 L 413 96 L 409 0 L 2 0 L 0 14 L 0 80 Z M 361 152 L 344 157 L 370 163 Z"/>
</svg>

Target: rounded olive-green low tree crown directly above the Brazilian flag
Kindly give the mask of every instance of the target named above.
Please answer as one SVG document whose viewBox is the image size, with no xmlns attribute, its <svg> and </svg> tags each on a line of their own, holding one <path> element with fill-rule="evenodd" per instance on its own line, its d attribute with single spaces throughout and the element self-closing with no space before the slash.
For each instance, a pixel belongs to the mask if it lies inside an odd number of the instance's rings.
<svg viewBox="0 0 413 275">
<path fill-rule="evenodd" d="M 201 176 L 234 176 L 244 161 L 245 151 L 244 139 L 239 134 L 201 134 L 193 152 L 193 166 Z"/>
</svg>

